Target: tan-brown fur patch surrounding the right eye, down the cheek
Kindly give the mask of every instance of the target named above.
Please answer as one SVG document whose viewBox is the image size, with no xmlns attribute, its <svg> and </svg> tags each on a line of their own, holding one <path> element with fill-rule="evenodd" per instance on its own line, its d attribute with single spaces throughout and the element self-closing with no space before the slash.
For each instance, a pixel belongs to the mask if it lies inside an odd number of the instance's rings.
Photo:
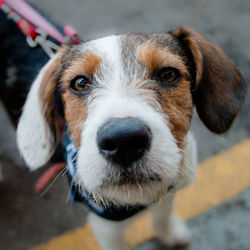
<svg viewBox="0 0 250 250">
<path fill-rule="evenodd" d="M 186 80 L 190 77 L 187 66 L 183 58 L 167 47 L 157 47 L 152 44 L 139 47 L 137 58 L 140 63 L 146 65 L 148 77 L 151 77 L 156 69 L 163 67 L 177 68 L 183 76 L 174 87 L 165 89 L 155 84 L 161 109 L 169 117 L 171 132 L 178 146 L 182 148 L 184 137 L 190 127 L 193 108 L 190 82 Z"/>
</svg>

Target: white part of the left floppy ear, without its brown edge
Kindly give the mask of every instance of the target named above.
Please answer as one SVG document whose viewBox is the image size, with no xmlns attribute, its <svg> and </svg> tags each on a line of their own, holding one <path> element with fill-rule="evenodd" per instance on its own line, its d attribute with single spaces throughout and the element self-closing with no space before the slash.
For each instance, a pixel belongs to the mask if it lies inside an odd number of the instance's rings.
<svg viewBox="0 0 250 250">
<path fill-rule="evenodd" d="M 55 151 L 55 136 L 39 96 L 44 76 L 54 59 L 41 69 L 32 84 L 17 126 L 17 145 L 31 170 L 44 165 Z M 50 84 L 50 82 L 45 84 Z"/>
</svg>

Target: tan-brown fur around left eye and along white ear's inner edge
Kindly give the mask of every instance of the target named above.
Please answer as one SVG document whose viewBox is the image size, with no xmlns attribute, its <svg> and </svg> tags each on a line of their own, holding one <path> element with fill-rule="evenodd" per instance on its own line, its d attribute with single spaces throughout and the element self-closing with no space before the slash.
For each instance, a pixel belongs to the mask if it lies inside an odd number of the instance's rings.
<svg viewBox="0 0 250 250">
<path fill-rule="evenodd" d="M 78 48 L 62 47 L 58 51 L 53 63 L 44 73 L 39 89 L 39 98 L 46 118 L 51 125 L 55 136 L 58 134 L 56 107 L 53 101 L 58 82 L 62 83 L 64 93 L 65 119 L 73 142 L 79 146 L 81 125 L 86 119 L 86 102 L 84 99 L 72 94 L 68 88 L 70 81 L 77 75 L 93 75 L 101 59 L 92 52 L 80 54 Z M 65 67 L 65 64 L 66 67 Z M 64 69 L 63 69 L 64 67 Z M 59 79 L 61 78 L 61 79 Z"/>
</svg>

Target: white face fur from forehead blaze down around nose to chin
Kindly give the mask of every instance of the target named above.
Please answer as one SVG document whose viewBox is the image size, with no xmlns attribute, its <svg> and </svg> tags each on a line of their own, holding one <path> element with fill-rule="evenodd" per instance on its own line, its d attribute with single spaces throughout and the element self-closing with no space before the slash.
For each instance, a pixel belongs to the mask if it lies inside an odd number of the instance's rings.
<svg viewBox="0 0 250 250">
<path fill-rule="evenodd" d="M 166 193 L 169 185 L 178 182 L 182 156 L 169 128 L 168 117 L 152 107 L 146 96 L 138 94 L 138 89 L 130 88 L 128 81 L 131 79 L 127 78 L 122 67 L 120 37 L 99 39 L 86 46 L 101 57 L 102 78 L 96 79 L 100 87 L 91 95 L 88 116 L 83 123 L 77 181 L 89 192 L 99 193 L 119 203 L 151 203 L 158 195 Z M 136 77 L 132 81 L 142 81 L 140 77 Z M 158 174 L 162 181 L 148 185 L 144 183 L 142 187 L 131 186 L 128 189 L 118 185 L 102 187 L 110 163 L 99 152 L 97 131 L 110 118 L 128 116 L 143 120 L 151 129 L 151 148 L 143 164 Z"/>
</svg>

